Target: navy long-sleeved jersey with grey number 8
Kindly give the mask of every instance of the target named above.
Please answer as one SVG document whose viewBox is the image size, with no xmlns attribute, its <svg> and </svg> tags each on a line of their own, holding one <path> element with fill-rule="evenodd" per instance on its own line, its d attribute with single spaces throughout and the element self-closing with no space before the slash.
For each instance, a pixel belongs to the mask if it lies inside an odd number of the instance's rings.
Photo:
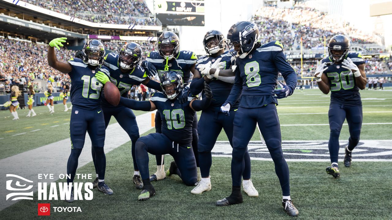
<svg viewBox="0 0 392 220">
<path fill-rule="evenodd" d="M 270 41 L 245 58 L 234 61 L 236 79 L 227 101 L 232 105 L 241 95 L 240 107 L 257 108 L 278 101 L 274 96 L 279 72 L 291 92 L 297 85 L 297 74 L 283 54 L 279 41 Z M 242 94 L 241 94 L 242 88 Z"/>
</svg>

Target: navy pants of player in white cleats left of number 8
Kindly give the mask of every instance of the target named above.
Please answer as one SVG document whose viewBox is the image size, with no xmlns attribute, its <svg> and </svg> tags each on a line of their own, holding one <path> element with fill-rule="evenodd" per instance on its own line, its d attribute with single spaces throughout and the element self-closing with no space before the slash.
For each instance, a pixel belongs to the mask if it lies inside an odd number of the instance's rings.
<svg viewBox="0 0 392 220">
<path fill-rule="evenodd" d="M 222 112 L 214 112 L 205 110 L 201 112 L 198 123 L 198 153 L 201 177 L 206 178 L 210 175 L 210 168 L 212 165 L 211 150 L 214 148 L 216 139 L 220 134 L 222 128 L 229 139 L 230 145 L 233 139 L 233 121 L 236 112 L 230 111 L 230 115 L 226 116 Z M 245 152 L 245 168 L 242 173 L 243 179 L 250 179 L 250 157 L 248 151 Z"/>
</svg>

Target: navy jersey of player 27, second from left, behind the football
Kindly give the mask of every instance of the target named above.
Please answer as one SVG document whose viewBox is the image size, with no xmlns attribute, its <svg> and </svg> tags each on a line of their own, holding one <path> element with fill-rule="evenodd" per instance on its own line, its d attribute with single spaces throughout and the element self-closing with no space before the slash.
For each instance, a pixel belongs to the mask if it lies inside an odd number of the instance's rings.
<svg viewBox="0 0 392 220">
<path fill-rule="evenodd" d="M 143 67 L 139 65 L 134 69 L 130 69 L 126 74 L 122 73 L 118 64 L 118 58 L 118 54 L 109 53 L 105 56 L 103 65 L 109 68 L 110 72 L 107 75 L 109 76 L 110 81 L 120 90 L 120 95 L 127 97 L 132 85 L 140 85 L 148 76 Z M 102 105 L 112 106 L 106 99 L 102 99 Z"/>
</svg>

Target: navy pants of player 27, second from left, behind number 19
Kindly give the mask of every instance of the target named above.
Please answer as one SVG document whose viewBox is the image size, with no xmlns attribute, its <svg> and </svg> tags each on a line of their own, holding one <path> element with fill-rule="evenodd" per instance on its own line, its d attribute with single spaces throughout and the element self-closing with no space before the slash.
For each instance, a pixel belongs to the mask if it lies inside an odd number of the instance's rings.
<svg viewBox="0 0 392 220">
<path fill-rule="evenodd" d="M 135 144 L 140 136 L 139 136 L 138 124 L 136 123 L 135 114 L 132 112 L 131 109 L 126 108 L 125 106 L 117 106 L 117 107 L 102 106 L 102 110 L 105 118 L 105 128 L 107 128 L 107 126 L 109 125 L 111 117 L 114 116 L 118 124 L 120 124 L 120 126 L 125 130 L 125 132 L 127 132 L 129 137 L 131 138 L 133 168 L 134 170 L 138 170 L 138 165 L 136 164 L 136 157 L 135 157 Z M 91 155 L 93 156 L 93 162 L 95 166 L 94 150 L 91 150 Z M 97 170 L 95 169 L 95 171 Z"/>
</svg>

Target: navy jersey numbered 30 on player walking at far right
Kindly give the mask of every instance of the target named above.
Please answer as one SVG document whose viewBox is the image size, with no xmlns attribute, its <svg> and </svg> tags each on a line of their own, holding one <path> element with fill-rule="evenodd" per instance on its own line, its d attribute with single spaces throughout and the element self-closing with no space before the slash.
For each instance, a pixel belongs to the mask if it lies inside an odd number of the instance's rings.
<svg viewBox="0 0 392 220">
<path fill-rule="evenodd" d="M 361 54 L 348 53 L 345 59 L 349 57 L 352 62 L 359 66 L 365 63 Z M 321 60 L 323 63 L 332 63 L 332 59 L 328 56 Z M 323 72 L 327 74 L 328 82 L 331 90 L 331 104 L 345 104 L 360 106 L 362 105 L 359 88 L 355 81 L 355 76 L 351 70 L 342 67 L 341 63 L 334 63 L 328 66 L 328 69 Z"/>
</svg>

